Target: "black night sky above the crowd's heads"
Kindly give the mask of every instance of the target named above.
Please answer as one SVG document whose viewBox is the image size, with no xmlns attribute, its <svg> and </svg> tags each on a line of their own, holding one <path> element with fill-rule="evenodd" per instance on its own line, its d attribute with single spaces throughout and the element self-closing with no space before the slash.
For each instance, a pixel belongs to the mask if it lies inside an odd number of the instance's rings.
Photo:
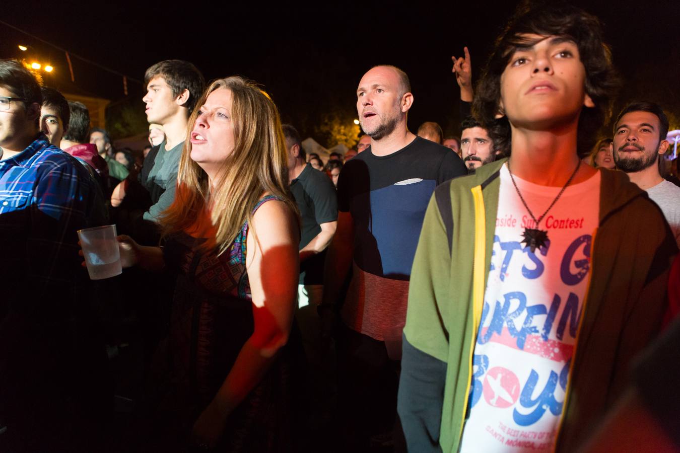
<svg viewBox="0 0 680 453">
<path fill-rule="evenodd" d="M 410 3 L 335 2 L 311 10 L 293 4 L 186 2 L 183 11 L 152 1 L 107 2 L 105 10 L 99 2 L 46 7 L 46 2 L 6 1 L 0 20 L 133 79 L 142 80 L 147 67 L 167 58 L 193 62 L 206 79 L 235 74 L 254 79 L 271 94 L 283 120 L 296 124 L 303 136 L 313 134 L 325 113 L 347 121 L 356 117 L 354 91 L 362 74 L 373 65 L 392 64 L 411 78 L 415 103 L 409 128 L 415 132 L 422 122 L 437 121 L 445 132 L 458 132 L 459 92 L 450 57 L 468 46 L 476 79 L 516 3 Z M 679 116 L 677 2 L 573 3 L 605 24 L 626 81 L 619 106 L 647 98 L 662 103 L 672 118 Z M 65 89 L 70 81 L 63 52 L 0 24 L 0 57 L 18 56 L 18 43 L 50 59 L 55 71 L 45 82 Z M 122 77 L 71 59 L 80 90 L 122 102 Z M 129 81 L 129 94 L 128 102 L 138 102 L 143 110 L 141 86 Z"/>
</svg>

